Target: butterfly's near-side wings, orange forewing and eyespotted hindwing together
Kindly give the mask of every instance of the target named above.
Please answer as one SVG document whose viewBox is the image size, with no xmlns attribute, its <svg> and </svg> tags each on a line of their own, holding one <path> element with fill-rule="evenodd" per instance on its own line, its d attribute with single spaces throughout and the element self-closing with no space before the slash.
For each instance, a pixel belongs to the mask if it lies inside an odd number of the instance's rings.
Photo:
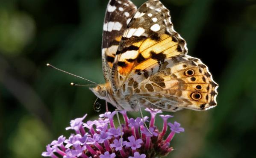
<svg viewBox="0 0 256 158">
<path fill-rule="evenodd" d="M 168 9 L 159 0 L 147 1 L 120 41 L 112 68 L 113 91 L 135 111 L 137 101 L 163 111 L 216 106 L 218 85 L 206 65 L 187 51 Z"/>
</svg>

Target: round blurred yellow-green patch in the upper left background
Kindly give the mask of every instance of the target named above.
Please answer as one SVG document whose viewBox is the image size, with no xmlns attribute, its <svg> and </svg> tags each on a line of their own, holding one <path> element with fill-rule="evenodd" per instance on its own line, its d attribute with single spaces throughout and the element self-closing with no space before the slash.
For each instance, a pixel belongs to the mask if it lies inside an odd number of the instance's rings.
<svg viewBox="0 0 256 158">
<path fill-rule="evenodd" d="M 33 22 L 25 13 L 0 10 L 0 49 L 6 56 L 18 55 L 33 38 Z"/>
</svg>

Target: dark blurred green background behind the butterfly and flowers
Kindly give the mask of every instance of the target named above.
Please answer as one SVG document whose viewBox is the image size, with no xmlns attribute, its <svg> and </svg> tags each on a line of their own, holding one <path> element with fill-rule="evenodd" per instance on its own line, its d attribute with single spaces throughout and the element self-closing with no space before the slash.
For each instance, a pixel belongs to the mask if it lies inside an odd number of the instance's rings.
<svg viewBox="0 0 256 158">
<path fill-rule="evenodd" d="M 134 0 L 137 6 L 143 2 Z M 256 2 L 162 3 L 187 41 L 188 54 L 208 65 L 219 84 L 216 108 L 174 114 L 171 121 L 182 123 L 185 133 L 174 138 L 171 145 L 176 150 L 169 157 L 256 157 Z M 106 0 L 0 0 L 1 158 L 40 158 L 47 143 L 70 134 L 65 127 L 71 119 L 85 113 L 87 120 L 97 117 L 94 94 L 69 85 L 87 82 L 45 64 L 103 83 L 106 4 Z"/>
</svg>

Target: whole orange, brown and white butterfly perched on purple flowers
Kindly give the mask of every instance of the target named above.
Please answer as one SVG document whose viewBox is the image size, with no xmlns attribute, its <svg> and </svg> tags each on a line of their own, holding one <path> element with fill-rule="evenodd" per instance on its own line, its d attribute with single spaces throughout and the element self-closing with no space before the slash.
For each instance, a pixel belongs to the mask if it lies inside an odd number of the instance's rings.
<svg viewBox="0 0 256 158">
<path fill-rule="evenodd" d="M 200 59 L 187 55 L 168 9 L 149 0 L 110 0 L 103 24 L 105 84 L 90 88 L 118 110 L 207 110 L 217 105 L 218 84 Z"/>
</svg>

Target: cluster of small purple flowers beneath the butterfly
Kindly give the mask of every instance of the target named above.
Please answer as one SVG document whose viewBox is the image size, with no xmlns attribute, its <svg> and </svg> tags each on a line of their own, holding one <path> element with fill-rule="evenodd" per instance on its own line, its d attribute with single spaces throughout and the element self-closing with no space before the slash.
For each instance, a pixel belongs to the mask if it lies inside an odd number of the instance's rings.
<svg viewBox="0 0 256 158">
<path fill-rule="evenodd" d="M 156 114 L 162 113 L 160 110 L 147 108 L 151 114 L 150 126 L 147 129 L 143 119 L 128 118 L 126 111 L 120 111 L 124 117 L 122 129 L 116 128 L 113 117 L 114 112 L 100 114 L 99 120 L 83 122 L 84 117 L 71 120 L 70 127 L 76 134 L 71 134 L 68 139 L 63 135 L 58 140 L 46 146 L 44 157 L 51 158 L 155 158 L 168 155 L 173 150 L 170 142 L 175 133 L 184 132 L 177 122 L 168 123 L 171 115 L 160 115 L 163 119 L 163 129 L 160 132 L 154 125 Z M 170 126 L 171 132 L 167 132 Z M 85 130 L 87 129 L 87 130 Z M 122 131 L 122 132 L 121 132 Z M 122 135 L 122 139 L 121 139 Z M 166 139 L 164 136 L 166 135 Z"/>
</svg>

